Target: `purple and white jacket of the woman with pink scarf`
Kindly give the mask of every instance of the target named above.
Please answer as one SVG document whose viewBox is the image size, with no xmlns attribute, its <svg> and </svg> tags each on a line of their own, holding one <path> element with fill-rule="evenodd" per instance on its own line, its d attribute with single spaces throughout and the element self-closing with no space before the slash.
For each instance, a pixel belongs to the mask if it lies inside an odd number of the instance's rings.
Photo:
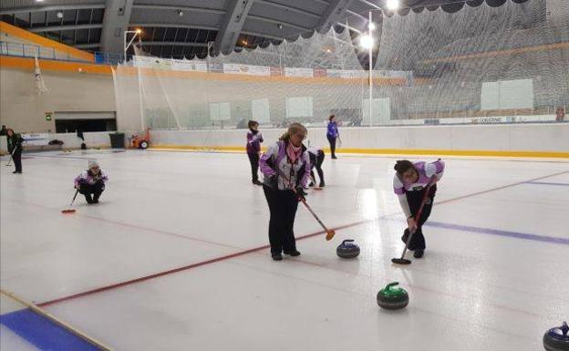
<svg viewBox="0 0 569 351">
<path fill-rule="evenodd" d="M 310 158 L 304 145 L 302 148 L 300 158 L 291 164 L 286 155 L 285 141 L 280 140 L 270 146 L 259 160 L 259 168 L 264 174 L 264 185 L 276 187 L 281 191 L 293 190 L 296 187 L 305 188 L 310 177 Z"/>
</svg>

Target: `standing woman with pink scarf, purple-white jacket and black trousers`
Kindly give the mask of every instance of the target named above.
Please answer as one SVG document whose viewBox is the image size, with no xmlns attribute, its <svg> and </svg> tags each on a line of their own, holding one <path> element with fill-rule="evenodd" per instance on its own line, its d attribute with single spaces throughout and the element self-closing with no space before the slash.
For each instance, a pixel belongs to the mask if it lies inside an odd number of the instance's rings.
<svg viewBox="0 0 569 351">
<path fill-rule="evenodd" d="M 291 124 L 260 160 L 264 196 L 271 212 L 269 243 L 274 261 L 283 260 L 282 253 L 300 254 L 293 229 L 298 201 L 305 197 L 304 188 L 310 176 L 310 158 L 303 144 L 306 134 L 302 124 Z"/>
</svg>

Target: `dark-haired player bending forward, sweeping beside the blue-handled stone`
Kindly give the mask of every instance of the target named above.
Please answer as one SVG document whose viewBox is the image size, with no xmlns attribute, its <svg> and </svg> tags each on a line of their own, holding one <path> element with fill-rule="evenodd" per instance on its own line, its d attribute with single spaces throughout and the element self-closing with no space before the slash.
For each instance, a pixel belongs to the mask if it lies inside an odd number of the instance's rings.
<svg viewBox="0 0 569 351">
<path fill-rule="evenodd" d="M 409 231 L 414 231 L 409 250 L 414 251 L 415 258 L 423 257 L 425 253 L 425 237 L 423 236 L 422 227 L 429 219 L 430 210 L 432 209 L 435 193 L 437 192 L 436 182 L 440 181 L 444 172 L 445 164 L 442 160 L 431 163 L 427 162 L 411 162 L 409 160 L 398 160 L 395 165 L 395 176 L 393 177 L 393 191 L 398 195 L 401 210 L 407 217 L 408 228 L 403 233 L 401 240 L 407 243 Z M 427 201 L 423 207 L 423 212 L 419 217 L 419 221 L 415 222 L 415 216 L 419 212 L 419 207 L 423 201 L 425 191 L 429 183 L 430 187 Z"/>
</svg>

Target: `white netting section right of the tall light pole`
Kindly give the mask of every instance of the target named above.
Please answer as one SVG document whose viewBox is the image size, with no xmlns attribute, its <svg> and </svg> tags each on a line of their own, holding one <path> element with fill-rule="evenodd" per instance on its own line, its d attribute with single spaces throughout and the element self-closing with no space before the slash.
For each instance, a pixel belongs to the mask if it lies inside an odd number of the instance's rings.
<svg viewBox="0 0 569 351">
<path fill-rule="evenodd" d="M 384 18 L 376 69 L 394 67 L 412 69 L 414 84 L 374 89 L 389 98 L 391 119 L 550 120 L 569 107 L 569 2 Z"/>
</svg>

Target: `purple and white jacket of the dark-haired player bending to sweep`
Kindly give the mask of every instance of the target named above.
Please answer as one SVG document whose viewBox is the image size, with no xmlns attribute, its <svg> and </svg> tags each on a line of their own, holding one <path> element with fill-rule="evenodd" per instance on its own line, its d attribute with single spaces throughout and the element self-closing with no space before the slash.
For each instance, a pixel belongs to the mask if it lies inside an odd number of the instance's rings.
<svg viewBox="0 0 569 351">
<path fill-rule="evenodd" d="M 397 173 L 393 176 L 393 191 L 398 195 L 401 210 L 403 210 L 408 218 L 411 216 L 411 211 L 409 209 L 409 202 L 407 201 L 405 193 L 407 191 L 422 191 L 429 184 L 429 181 L 433 176 L 436 177 L 437 180 L 440 180 L 445 167 L 442 160 L 436 160 L 431 163 L 415 162 L 413 165 L 419 172 L 419 179 L 416 182 L 409 183 L 407 181 L 403 181 L 399 179 Z"/>
</svg>

